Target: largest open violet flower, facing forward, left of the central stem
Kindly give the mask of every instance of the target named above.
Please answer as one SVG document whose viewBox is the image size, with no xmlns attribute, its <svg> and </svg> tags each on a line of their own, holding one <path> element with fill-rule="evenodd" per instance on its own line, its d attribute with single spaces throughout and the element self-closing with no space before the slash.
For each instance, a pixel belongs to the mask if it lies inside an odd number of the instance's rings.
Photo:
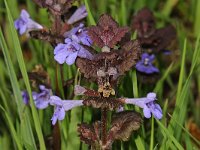
<svg viewBox="0 0 200 150">
<path fill-rule="evenodd" d="M 66 62 L 68 65 L 72 65 L 77 56 L 87 59 L 93 58 L 89 51 L 70 38 L 65 39 L 65 44 L 60 43 L 55 47 L 54 55 L 54 59 L 59 64 Z"/>
</svg>

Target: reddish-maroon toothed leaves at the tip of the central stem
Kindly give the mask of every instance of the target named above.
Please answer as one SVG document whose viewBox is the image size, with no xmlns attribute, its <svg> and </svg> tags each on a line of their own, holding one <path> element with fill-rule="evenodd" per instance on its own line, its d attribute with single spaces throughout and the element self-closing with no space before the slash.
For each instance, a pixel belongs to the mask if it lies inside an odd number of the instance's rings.
<svg viewBox="0 0 200 150">
<path fill-rule="evenodd" d="M 118 23 L 111 16 L 103 14 L 97 26 L 88 28 L 88 35 L 97 46 L 113 48 L 128 31 L 128 27 L 119 27 Z"/>
</svg>

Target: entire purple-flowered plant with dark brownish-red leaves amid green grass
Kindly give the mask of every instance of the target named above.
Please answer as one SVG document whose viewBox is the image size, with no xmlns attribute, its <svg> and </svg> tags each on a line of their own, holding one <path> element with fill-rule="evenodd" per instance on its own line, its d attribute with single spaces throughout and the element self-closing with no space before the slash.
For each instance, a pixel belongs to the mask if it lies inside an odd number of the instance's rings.
<svg viewBox="0 0 200 150">
<path fill-rule="evenodd" d="M 154 21 L 150 21 L 153 23 L 152 26 L 145 26 L 148 20 L 140 26 L 137 24 L 140 18 L 136 17 L 134 24 L 136 30 L 139 31 L 138 40 L 131 40 L 130 29 L 119 27 L 108 14 L 101 15 L 96 26 L 85 27 L 83 20 L 87 16 L 86 8 L 84 5 L 74 8 L 72 6 L 74 0 L 34 1 L 40 7 L 49 10 L 53 18 L 52 27 L 50 29 L 43 27 L 33 21 L 26 10 L 22 10 L 20 18 L 15 21 L 15 27 L 19 33 L 21 35 L 26 33 L 31 38 L 49 42 L 54 48 L 52 55 L 54 54 L 57 63 L 75 64 L 88 82 L 94 82 L 98 86 L 98 89 L 89 89 L 80 84 L 76 85 L 74 94 L 81 95 L 82 100 L 62 100 L 59 93 L 52 91 L 50 87 L 39 85 L 39 92 L 32 92 L 35 106 L 38 109 L 45 109 L 49 105 L 54 106 L 53 125 L 57 120 L 63 120 L 66 111 L 74 107 L 84 105 L 101 109 L 101 121 L 96 121 L 91 125 L 80 123 L 77 128 L 81 141 L 90 145 L 91 149 L 103 150 L 112 149 L 112 143 L 115 140 L 127 141 L 131 133 L 138 130 L 142 124 L 140 113 L 123 110 L 124 105 L 132 104 L 142 108 L 146 118 L 150 118 L 151 115 L 156 119 L 162 118 L 162 109 L 156 104 L 156 93 L 147 93 L 143 98 L 124 98 L 119 96 L 118 84 L 119 79 L 129 70 L 135 69 L 135 66 L 138 71 L 147 74 L 159 72 L 152 65 L 155 56 L 147 51 L 142 54 L 142 49 L 145 49 L 143 46 L 146 42 L 150 48 L 153 45 L 153 50 L 163 50 L 166 44 L 162 41 L 151 43 L 153 41 L 151 38 L 158 38 L 155 35 L 159 34 L 155 32 L 163 33 L 166 32 L 165 30 L 156 31 Z M 28 105 L 27 92 L 23 91 L 22 96 L 24 103 Z M 109 127 L 108 111 L 115 111 Z"/>
</svg>

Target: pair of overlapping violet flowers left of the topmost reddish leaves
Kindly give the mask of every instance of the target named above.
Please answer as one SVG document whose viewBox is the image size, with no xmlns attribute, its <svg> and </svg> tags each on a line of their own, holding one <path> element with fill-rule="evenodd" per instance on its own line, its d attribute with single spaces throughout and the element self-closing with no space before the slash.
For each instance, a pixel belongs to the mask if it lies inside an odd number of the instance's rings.
<svg viewBox="0 0 200 150">
<path fill-rule="evenodd" d="M 66 37 L 65 43 L 58 44 L 54 49 L 54 59 L 59 64 L 66 62 L 68 65 L 72 65 L 77 56 L 90 60 L 93 58 L 93 55 L 83 46 L 90 46 L 92 43 L 83 24 L 66 32 L 64 36 Z"/>
</svg>

